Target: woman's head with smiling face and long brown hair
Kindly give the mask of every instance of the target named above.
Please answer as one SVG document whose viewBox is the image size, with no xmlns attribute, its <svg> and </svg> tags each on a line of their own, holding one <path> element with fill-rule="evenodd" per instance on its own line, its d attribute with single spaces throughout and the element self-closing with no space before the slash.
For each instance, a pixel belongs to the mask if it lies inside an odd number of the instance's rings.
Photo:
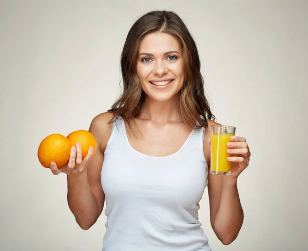
<svg viewBox="0 0 308 251">
<path fill-rule="evenodd" d="M 114 114 L 112 121 L 121 117 L 131 129 L 146 97 L 164 101 L 172 96 L 185 123 L 196 129 L 207 127 L 207 119 L 214 120 L 215 116 L 204 95 L 200 67 L 196 43 L 176 13 L 152 11 L 143 15 L 129 30 L 124 44 L 124 90 L 109 110 Z M 170 85 L 165 81 L 171 81 Z"/>
</svg>

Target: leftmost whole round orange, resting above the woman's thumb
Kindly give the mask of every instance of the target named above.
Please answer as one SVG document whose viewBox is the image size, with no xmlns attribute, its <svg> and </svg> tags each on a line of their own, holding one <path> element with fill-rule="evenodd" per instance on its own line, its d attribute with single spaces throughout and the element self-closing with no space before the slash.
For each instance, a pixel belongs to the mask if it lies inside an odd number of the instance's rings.
<svg viewBox="0 0 308 251">
<path fill-rule="evenodd" d="M 42 140 L 37 150 L 37 157 L 45 168 L 50 168 L 50 162 L 55 162 L 57 168 L 62 168 L 69 160 L 72 144 L 63 135 L 54 133 Z"/>
</svg>

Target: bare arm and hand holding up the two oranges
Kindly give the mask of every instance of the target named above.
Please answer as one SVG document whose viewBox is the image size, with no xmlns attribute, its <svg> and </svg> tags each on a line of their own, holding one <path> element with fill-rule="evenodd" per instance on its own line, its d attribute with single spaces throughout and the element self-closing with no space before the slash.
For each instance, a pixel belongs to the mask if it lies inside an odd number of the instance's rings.
<svg viewBox="0 0 308 251">
<path fill-rule="evenodd" d="M 89 132 L 97 140 L 97 151 L 91 156 L 81 159 L 81 149 L 72 147 L 68 165 L 65 168 L 51 168 L 53 174 L 67 174 L 67 201 L 75 216 L 76 222 L 82 229 L 89 229 L 103 211 L 105 194 L 101 184 L 101 170 L 104 161 L 104 151 L 111 134 L 111 124 L 107 124 L 112 115 L 103 113 L 95 117 Z"/>
</svg>

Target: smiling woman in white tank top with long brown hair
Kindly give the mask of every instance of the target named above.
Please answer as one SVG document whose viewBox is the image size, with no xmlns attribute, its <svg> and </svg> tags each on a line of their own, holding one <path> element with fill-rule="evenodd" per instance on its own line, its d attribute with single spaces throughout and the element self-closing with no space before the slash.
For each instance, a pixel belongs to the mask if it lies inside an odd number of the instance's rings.
<svg viewBox="0 0 308 251">
<path fill-rule="evenodd" d="M 194 40 L 180 17 L 145 14 L 130 29 L 121 57 L 124 89 L 112 109 L 96 116 L 89 131 L 98 151 L 82 160 L 79 144 L 68 164 L 68 204 L 82 229 L 90 228 L 106 200 L 103 249 L 211 250 L 198 221 L 206 185 L 210 222 L 223 244 L 243 223 L 237 178 L 250 152 L 232 138 L 228 176 L 208 175 L 210 126 L 215 116 L 204 96 Z M 206 140 L 205 140 L 206 139 Z"/>
</svg>

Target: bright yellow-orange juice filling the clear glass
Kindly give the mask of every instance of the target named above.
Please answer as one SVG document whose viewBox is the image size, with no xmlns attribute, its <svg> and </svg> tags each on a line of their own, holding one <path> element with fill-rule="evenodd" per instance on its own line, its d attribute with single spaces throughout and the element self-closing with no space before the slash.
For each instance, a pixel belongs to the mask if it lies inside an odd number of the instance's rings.
<svg viewBox="0 0 308 251">
<path fill-rule="evenodd" d="M 211 135 L 210 151 L 210 172 L 214 174 L 230 174 L 231 162 L 227 157 L 227 143 L 231 142 L 230 137 L 235 136 L 233 133 L 213 133 Z"/>
</svg>

